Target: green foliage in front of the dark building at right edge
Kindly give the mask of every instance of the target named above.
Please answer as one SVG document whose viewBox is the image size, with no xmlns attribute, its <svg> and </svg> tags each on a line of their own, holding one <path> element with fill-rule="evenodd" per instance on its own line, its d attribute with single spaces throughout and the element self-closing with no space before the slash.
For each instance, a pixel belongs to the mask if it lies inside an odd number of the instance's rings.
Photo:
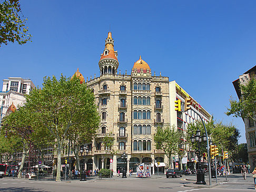
<svg viewBox="0 0 256 192">
<path fill-rule="evenodd" d="M 240 84 L 241 95 L 239 101 L 230 98 L 230 108 L 228 108 L 228 116 L 242 118 L 252 118 L 256 121 L 254 113 L 256 111 L 256 80 L 252 77 L 245 85 Z"/>
</svg>

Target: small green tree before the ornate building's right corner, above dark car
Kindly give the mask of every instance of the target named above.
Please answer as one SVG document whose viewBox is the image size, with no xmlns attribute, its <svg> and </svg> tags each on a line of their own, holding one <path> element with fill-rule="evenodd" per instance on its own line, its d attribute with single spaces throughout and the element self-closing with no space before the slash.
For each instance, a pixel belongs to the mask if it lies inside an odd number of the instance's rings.
<svg viewBox="0 0 256 192">
<path fill-rule="evenodd" d="M 181 143 L 181 137 L 183 137 L 183 132 L 180 132 L 174 126 L 165 128 L 157 127 L 156 129 L 156 133 L 154 134 L 156 149 L 162 149 L 165 152 L 169 158 L 169 164 L 172 155 L 180 151 L 179 144 Z"/>
</svg>

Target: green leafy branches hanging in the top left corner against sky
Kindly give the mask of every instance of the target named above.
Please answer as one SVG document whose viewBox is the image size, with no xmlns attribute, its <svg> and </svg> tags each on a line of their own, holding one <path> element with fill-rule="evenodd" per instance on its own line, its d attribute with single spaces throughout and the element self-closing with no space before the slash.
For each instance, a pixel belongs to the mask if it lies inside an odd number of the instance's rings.
<svg viewBox="0 0 256 192">
<path fill-rule="evenodd" d="M 25 26 L 27 18 L 22 18 L 21 5 L 19 0 L 0 1 L 0 46 L 8 42 L 25 44 L 31 41 L 31 34 Z"/>
</svg>

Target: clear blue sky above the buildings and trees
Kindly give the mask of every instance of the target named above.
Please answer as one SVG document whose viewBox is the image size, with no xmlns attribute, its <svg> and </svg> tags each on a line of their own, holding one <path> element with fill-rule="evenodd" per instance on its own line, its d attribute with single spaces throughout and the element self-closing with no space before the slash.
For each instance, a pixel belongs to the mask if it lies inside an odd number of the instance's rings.
<svg viewBox="0 0 256 192">
<path fill-rule="evenodd" d="M 232 82 L 255 65 L 256 1 L 21 0 L 33 42 L 0 48 L 1 79 L 100 75 L 111 25 L 121 73 L 140 55 L 153 72 L 182 86 L 217 121 L 232 122 L 245 143 L 242 119 L 227 117 Z"/>
</svg>

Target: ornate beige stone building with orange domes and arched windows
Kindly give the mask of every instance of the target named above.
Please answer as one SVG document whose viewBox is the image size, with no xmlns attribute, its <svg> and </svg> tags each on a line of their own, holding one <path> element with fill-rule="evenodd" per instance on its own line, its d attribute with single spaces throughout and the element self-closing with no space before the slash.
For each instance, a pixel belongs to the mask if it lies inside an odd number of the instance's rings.
<svg viewBox="0 0 256 192">
<path fill-rule="evenodd" d="M 158 126 L 170 126 L 169 78 L 162 77 L 161 73 L 152 75 L 150 66 L 141 56 L 134 63 L 131 75 L 117 74 L 119 60 L 111 32 L 105 40 L 99 67 L 100 77 L 85 82 L 94 92 L 101 115 L 97 137 L 88 144 L 86 169 L 110 168 L 110 159 L 113 159 L 111 168 L 116 174 L 124 165 L 121 159 L 124 151 L 127 169 L 133 167 L 136 171 L 136 164 L 160 159 L 167 164 L 163 151 L 155 149 L 153 134 Z M 74 75 L 83 82 L 78 69 Z M 114 138 L 111 149 L 103 145 L 105 136 Z"/>
</svg>

